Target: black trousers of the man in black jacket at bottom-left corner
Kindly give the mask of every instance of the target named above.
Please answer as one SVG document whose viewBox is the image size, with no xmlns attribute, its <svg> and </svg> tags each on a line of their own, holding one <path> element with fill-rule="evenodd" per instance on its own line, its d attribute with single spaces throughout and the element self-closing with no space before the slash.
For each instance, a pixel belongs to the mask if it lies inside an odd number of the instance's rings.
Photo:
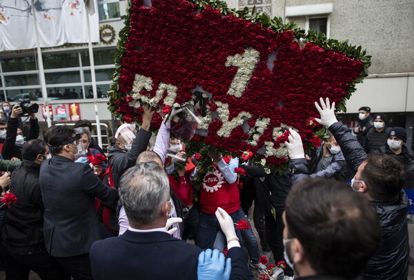
<svg viewBox="0 0 414 280">
<path fill-rule="evenodd" d="M 13 247 L 1 243 L 1 252 L 6 262 L 7 280 L 28 280 L 30 270 L 36 272 L 42 280 L 70 279 L 63 277 L 63 270 L 48 252 L 17 254 Z"/>
</svg>

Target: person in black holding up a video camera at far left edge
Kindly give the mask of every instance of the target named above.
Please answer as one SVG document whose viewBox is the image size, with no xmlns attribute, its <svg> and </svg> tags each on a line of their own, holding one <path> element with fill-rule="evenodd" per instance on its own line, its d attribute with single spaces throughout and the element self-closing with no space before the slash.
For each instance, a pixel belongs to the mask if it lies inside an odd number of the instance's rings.
<svg viewBox="0 0 414 280">
<path fill-rule="evenodd" d="M 12 113 L 8 120 L 6 130 L 6 141 L 3 144 L 1 154 L 3 159 L 12 159 L 21 161 L 21 147 L 24 143 L 23 132 L 18 128 L 18 118 L 23 114 L 23 109 L 19 104 L 12 107 Z M 39 137 L 39 121 L 34 113 L 30 113 L 30 130 L 26 141 L 37 139 Z"/>
</svg>

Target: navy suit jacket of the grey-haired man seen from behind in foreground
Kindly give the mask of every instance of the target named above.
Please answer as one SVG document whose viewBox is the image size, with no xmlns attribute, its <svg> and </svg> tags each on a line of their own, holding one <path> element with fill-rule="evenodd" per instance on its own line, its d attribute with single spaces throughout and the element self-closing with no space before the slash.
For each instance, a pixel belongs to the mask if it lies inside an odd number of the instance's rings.
<svg viewBox="0 0 414 280">
<path fill-rule="evenodd" d="M 131 232 L 93 243 L 90 266 L 95 280 L 195 280 L 201 249 L 166 232 Z M 231 248 L 230 279 L 249 279 L 246 253 Z"/>
</svg>

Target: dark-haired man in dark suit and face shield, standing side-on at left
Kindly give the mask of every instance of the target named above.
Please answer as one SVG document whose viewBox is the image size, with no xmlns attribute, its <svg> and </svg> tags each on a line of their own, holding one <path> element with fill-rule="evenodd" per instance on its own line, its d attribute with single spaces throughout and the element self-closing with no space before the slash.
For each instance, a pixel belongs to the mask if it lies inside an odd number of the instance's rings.
<svg viewBox="0 0 414 280">
<path fill-rule="evenodd" d="M 52 128 L 48 142 L 53 157 L 41 165 L 39 177 L 46 249 L 74 279 L 92 279 L 88 254 L 101 239 L 94 199 L 111 201 L 118 192 L 102 183 L 89 165 L 74 162 L 83 143 L 72 128 Z"/>
</svg>

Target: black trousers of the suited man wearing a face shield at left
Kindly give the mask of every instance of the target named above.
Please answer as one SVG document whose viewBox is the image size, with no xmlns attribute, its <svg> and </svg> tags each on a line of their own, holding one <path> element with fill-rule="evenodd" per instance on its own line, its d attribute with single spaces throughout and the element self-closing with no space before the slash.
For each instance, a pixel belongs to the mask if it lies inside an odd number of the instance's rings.
<svg viewBox="0 0 414 280">
<path fill-rule="evenodd" d="M 89 254 L 73 257 L 55 257 L 55 260 L 74 280 L 93 280 L 90 272 Z"/>
</svg>

